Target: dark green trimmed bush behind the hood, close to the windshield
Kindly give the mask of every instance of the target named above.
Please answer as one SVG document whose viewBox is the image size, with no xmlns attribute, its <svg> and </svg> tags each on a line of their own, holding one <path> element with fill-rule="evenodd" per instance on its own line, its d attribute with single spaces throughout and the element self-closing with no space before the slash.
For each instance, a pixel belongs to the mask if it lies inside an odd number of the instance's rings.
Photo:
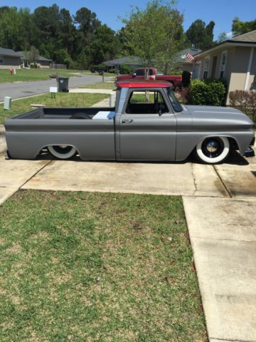
<svg viewBox="0 0 256 342">
<path fill-rule="evenodd" d="M 226 93 L 223 81 L 219 80 L 192 80 L 189 86 L 193 105 L 224 105 Z"/>
</svg>

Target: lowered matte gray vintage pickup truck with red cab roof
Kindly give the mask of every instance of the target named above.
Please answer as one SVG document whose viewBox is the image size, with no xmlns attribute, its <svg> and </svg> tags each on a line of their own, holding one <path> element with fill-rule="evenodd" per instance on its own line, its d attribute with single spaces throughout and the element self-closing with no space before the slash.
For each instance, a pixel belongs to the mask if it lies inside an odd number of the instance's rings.
<svg viewBox="0 0 256 342">
<path fill-rule="evenodd" d="M 7 119 L 9 157 L 34 159 L 43 149 L 60 159 L 223 162 L 254 144 L 253 123 L 240 110 L 181 105 L 166 81 L 119 81 L 115 108 L 39 108 Z"/>
</svg>

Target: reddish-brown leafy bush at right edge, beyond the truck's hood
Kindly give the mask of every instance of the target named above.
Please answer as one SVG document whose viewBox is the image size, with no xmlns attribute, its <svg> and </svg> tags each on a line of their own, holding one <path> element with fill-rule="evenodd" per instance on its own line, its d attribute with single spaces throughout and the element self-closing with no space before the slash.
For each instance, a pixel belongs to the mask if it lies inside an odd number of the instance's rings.
<svg viewBox="0 0 256 342">
<path fill-rule="evenodd" d="M 229 93 L 230 105 L 250 116 L 256 123 L 256 92 L 235 90 Z"/>
</svg>

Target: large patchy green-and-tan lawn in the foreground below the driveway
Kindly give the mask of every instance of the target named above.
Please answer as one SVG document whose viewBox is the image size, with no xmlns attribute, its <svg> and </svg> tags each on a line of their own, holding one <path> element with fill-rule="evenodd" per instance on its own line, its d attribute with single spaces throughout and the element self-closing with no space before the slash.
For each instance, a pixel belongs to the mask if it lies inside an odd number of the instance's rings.
<svg viewBox="0 0 256 342">
<path fill-rule="evenodd" d="M 207 341 L 181 197 L 19 191 L 0 242 L 1 341 Z"/>
</svg>

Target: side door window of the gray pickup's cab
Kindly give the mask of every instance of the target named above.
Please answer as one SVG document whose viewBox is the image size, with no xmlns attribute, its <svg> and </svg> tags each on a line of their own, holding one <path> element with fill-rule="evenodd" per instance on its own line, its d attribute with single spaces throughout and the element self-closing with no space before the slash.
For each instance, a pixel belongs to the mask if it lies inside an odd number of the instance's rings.
<svg viewBox="0 0 256 342">
<path fill-rule="evenodd" d="M 164 114 L 169 109 L 160 91 L 133 91 L 127 103 L 126 113 Z"/>
</svg>

